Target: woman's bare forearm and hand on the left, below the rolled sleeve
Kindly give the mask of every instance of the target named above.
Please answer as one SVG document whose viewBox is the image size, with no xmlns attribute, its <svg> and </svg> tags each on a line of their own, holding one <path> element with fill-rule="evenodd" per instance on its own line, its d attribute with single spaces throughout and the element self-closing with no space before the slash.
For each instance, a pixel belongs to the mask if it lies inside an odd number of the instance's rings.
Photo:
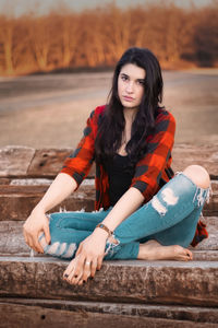
<svg viewBox="0 0 218 328">
<path fill-rule="evenodd" d="M 77 184 L 74 178 L 70 177 L 68 174 L 60 173 L 50 185 L 43 199 L 34 208 L 23 226 L 26 244 L 34 250 L 44 253 L 38 243 L 38 236 L 41 232 L 45 233 L 47 243 L 50 243 L 49 223 L 46 212 L 69 197 L 76 187 Z"/>
</svg>

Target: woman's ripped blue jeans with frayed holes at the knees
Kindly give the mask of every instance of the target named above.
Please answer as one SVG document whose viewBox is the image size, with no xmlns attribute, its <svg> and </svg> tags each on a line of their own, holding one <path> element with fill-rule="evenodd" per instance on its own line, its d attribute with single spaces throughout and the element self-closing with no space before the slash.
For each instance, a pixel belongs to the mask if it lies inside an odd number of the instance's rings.
<svg viewBox="0 0 218 328">
<path fill-rule="evenodd" d="M 105 259 L 136 259 L 140 243 L 156 239 L 161 245 L 187 247 L 196 231 L 209 188 L 197 187 L 178 173 L 153 199 L 126 218 L 114 231 L 118 244 L 107 242 Z M 51 245 L 41 234 L 45 254 L 71 259 L 82 241 L 93 233 L 109 211 L 58 212 L 49 215 Z"/>
</svg>

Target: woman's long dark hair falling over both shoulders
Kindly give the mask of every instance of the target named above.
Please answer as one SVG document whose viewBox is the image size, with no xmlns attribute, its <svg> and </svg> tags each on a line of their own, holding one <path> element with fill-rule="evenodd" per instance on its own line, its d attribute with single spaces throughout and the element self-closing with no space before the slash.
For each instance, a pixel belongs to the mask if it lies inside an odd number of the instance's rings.
<svg viewBox="0 0 218 328">
<path fill-rule="evenodd" d="M 102 164 L 113 157 L 121 147 L 125 120 L 118 95 L 118 77 L 126 63 L 136 65 L 146 72 L 144 95 L 132 124 L 131 140 L 125 147 L 132 165 L 135 165 L 146 151 L 146 137 L 154 130 L 156 110 L 162 101 L 162 77 L 157 58 L 146 48 L 129 48 L 114 69 L 108 104 L 95 142 L 96 161 Z"/>
</svg>

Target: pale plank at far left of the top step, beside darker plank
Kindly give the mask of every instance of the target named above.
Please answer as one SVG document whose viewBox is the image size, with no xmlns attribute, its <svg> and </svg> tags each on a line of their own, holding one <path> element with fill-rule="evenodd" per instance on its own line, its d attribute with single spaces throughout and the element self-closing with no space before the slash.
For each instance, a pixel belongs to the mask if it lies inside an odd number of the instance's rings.
<svg viewBox="0 0 218 328">
<path fill-rule="evenodd" d="M 34 153 L 28 147 L 0 148 L 0 176 L 25 176 Z"/>
</svg>

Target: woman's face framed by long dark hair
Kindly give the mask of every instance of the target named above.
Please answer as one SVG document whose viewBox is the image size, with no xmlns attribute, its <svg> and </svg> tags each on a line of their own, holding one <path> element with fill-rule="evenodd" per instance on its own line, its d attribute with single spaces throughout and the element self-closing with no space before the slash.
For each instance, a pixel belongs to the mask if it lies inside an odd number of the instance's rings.
<svg viewBox="0 0 218 328">
<path fill-rule="evenodd" d="M 124 108 L 137 108 L 144 95 L 145 70 L 126 63 L 118 77 L 118 95 Z"/>
</svg>

